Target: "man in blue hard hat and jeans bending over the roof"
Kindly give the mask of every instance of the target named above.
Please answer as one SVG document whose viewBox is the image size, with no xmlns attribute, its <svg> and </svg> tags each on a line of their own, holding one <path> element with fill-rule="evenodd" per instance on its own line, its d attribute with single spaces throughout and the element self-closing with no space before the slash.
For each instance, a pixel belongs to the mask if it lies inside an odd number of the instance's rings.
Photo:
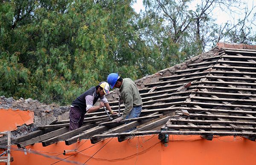
<svg viewBox="0 0 256 165">
<path fill-rule="evenodd" d="M 139 117 L 142 110 L 142 100 L 134 81 L 129 78 L 122 79 L 117 73 L 109 74 L 107 81 L 111 88 L 119 88 L 120 97 L 125 105 L 122 116 L 117 118 L 116 122 Z"/>
</svg>

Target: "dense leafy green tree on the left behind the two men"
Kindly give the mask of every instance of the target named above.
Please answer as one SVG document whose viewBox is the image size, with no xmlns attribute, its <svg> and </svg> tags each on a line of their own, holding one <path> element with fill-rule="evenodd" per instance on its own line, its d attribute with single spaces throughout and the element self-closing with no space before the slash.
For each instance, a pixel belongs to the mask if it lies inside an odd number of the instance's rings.
<svg viewBox="0 0 256 165">
<path fill-rule="evenodd" d="M 4 1 L 0 94 L 69 104 L 111 72 L 154 73 L 134 17 L 131 0 Z"/>
</svg>

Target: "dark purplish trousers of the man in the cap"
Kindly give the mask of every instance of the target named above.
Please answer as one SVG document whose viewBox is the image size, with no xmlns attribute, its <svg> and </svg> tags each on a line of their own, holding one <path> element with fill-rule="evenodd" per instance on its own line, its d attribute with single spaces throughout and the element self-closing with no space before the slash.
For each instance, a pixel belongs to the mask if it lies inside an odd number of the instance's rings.
<svg viewBox="0 0 256 165">
<path fill-rule="evenodd" d="M 79 111 L 77 106 L 70 107 L 70 128 L 69 130 L 72 131 L 74 129 L 80 128 L 83 125 L 84 121 L 84 113 Z"/>
</svg>

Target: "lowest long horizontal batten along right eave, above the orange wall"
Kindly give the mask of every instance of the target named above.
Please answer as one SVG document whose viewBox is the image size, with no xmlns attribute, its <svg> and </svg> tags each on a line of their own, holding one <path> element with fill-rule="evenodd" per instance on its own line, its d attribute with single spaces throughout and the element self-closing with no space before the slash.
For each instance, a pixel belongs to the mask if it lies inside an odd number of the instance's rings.
<svg viewBox="0 0 256 165">
<path fill-rule="evenodd" d="M 239 131 L 161 131 L 161 134 L 174 135 L 219 135 L 219 136 L 256 136 L 256 132 L 239 132 Z"/>
</svg>

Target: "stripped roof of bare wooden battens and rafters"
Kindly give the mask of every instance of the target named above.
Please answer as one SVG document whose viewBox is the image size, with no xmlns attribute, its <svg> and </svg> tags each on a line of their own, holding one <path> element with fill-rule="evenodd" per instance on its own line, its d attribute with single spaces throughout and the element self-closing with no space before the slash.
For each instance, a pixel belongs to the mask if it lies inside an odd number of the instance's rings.
<svg viewBox="0 0 256 165">
<path fill-rule="evenodd" d="M 101 109 L 86 114 L 84 125 L 76 130 L 68 130 L 69 120 L 56 121 L 13 142 L 18 147 L 36 142 L 47 146 L 62 140 L 70 145 L 89 138 L 96 143 L 106 137 L 118 137 L 122 142 L 131 134 L 202 135 L 209 140 L 213 135 L 232 135 L 255 141 L 256 50 L 215 48 L 152 77 L 154 83 L 136 81 L 143 100 L 139 118 L 110 122 Z M 114 100 L 109 103 L 118 111 L 115 93 L 109 96 Z M 120 109 L 122 113 L 123 104 Z M 127 121 L 132 122 L 125 124 Z"/>
</svg>

